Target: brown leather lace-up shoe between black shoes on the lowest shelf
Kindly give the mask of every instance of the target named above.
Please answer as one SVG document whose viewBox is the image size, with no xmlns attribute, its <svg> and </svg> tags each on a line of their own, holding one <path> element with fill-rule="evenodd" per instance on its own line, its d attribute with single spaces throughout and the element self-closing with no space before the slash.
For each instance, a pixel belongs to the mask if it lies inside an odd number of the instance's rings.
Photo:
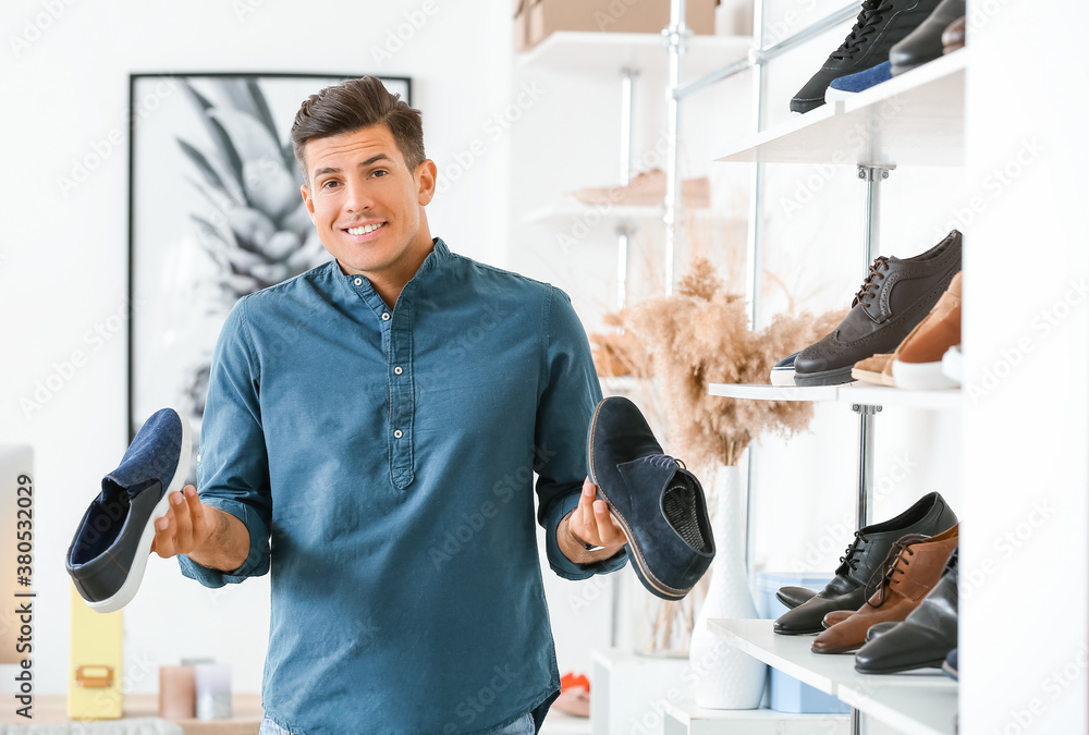
<svg viewBox="0 0 1089 735">
<path fill-rule="evenodd" d="M 885 560 L 877 591 L 858 612 L 813 639 L 813 653 L 846 653 L 866 642 L 871 625 L 900 622 L 919 607 L 956 549 L 959 524 L 938 536 L 905 536 Z M 874 577 L 878 577 L 874 574 Z"/>
</svg>

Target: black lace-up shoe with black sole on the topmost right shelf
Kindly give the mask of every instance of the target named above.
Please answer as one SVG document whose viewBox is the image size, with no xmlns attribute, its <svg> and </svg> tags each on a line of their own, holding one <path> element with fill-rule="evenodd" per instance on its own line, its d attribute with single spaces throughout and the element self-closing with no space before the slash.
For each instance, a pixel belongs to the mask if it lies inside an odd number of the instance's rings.
<svg viewBox="0 0 1089 735">
<path fill-rule="evenodd" d="M 824 93 L 833 79 L 888 61 L 889 50 L 927 20 L 938 3 L 939 0 L 862 0 L 851 33 L 794 96 L 791 111 L 817 109 L 824 103 Z"/>
</svg>

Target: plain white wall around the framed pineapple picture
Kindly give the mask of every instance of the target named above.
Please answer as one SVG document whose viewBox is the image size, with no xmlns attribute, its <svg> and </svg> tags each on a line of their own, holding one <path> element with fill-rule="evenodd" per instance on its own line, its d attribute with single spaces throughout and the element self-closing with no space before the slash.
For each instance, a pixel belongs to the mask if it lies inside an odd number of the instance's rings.
<svg viewBox="0 0 1089 735">
<path fill-rule="evenodd" d="M 48 8 L 54 8 L 56 17 Z M 429 11 L 429 12 L 425 12 Z M 423 24 L 396 49 L 390 29 Z M 35 690 L 66 690 L 69 590 L 63 555 L 101 477 L 127 444 L 126 340 L 110 317 L 127 293 L 129 74 L 205 71 L 384 73 L 413 77 L 426 145 L 440 172 L 466 173 L 429 208 L 432 234 L 503 265 L 506 140 L 485 124 L 511 103 L 510 21 L 487 0 L 168 3 L 17 0 L 0 20 L 0 131 L 8 140 L 0 200 L 0 442 L 36 455 Z M 44 28 L 44 29 L 39 29 Z M 411 27 L 411 26 L 405 26 Z M 25 42 L 12 42 L 12 38 Z M 405 33 L 405 36 L 409 34 Z M 392 49 L 378 62 L 375 50 Z M 101 142 L 124 139 L 122 145 Z M 469 154 L 473 142 L 486 142 Z M 112 146 L 65 196 L 73 159 Z M 466 156 L 470 156 L 466 158 Z M 100 350 L 84 340 L 97 326 Z M 74 350 L 87 355 L 63 388 L 27 414 L 33 397 Z M 268 579 L 212 593 L 152 558 L 125 610 L 129 684 L 154 691 L 154 666 L 215 656 L 234 666 L 238 690 L 256 691 L 268 633 Z M 140 675 L 140 662 L 150 674 Z M 9 686 L 5 675 L 4 687 Z"/>
</svg>

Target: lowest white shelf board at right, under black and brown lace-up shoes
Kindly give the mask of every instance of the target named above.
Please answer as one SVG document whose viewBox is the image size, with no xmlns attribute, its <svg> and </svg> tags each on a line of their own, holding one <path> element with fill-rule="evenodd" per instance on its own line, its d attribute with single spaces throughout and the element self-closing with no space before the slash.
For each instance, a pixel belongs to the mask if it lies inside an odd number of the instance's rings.
<svg viewBox="0 0 1089 735">
<path fill-rule="evenodd" d="M 712 620 L 711 633 L 769 666 L 840 697 L 908 735 L 949 735 L 957 709 L 957 685 L 941 673 L 870 675 L 855 671 L 851 654 L 810 651 L 813 636 L 780 636 L 772 621 Z"/>
</svg>

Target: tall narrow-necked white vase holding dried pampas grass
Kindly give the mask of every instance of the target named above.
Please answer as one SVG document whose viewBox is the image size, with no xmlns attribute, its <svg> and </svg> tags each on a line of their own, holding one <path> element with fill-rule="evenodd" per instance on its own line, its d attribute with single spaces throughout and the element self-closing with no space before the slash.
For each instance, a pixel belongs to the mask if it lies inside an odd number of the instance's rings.
<svg viewBox="0 0 1089 735">
<path fill-rule="evenodd" d="M 696 703 L 707 709 L 751 710 L 763 698 L 767 666 L 727 645 L 707 627 L 709 620 L 759 617 L 745 571 L 744 487 L 736 466 L 722 466 L 714 476 L 712 497 L 718 501 L 711 519 L 715 547 L 711 584 L 688 649 Z"/>
</svg>

